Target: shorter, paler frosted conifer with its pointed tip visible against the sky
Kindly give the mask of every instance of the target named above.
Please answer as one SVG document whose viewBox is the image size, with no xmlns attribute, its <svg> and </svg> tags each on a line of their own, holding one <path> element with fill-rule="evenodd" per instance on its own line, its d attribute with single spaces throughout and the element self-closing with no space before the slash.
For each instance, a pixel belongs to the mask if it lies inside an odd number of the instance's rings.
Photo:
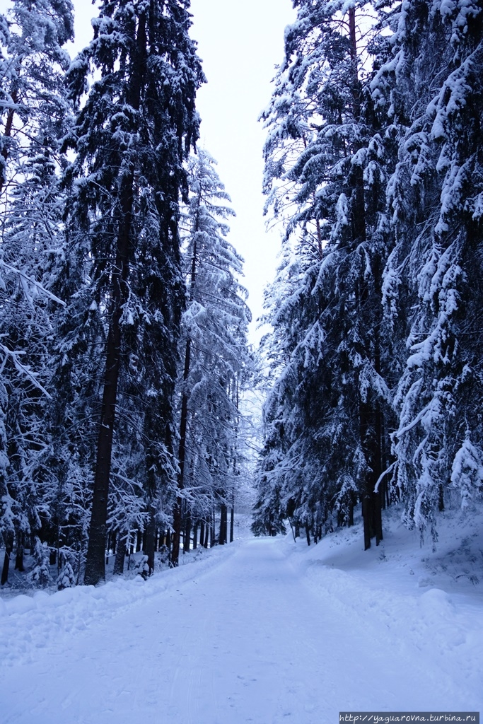
<svg viewBox="0 0 483 724">
<path fill-rule="evenodd" d="M 227 506 L 235 486 L 238 387 L 251 368 L 246 342 L 250 311 L 238 281 L 243 259 L 227 241 L 226 205 L 215 161 L 198 150 L 188 164 L 190 203 L 184 237 L 188 308 L 183 318 L 180 379 L 180 445 L 172 564 L 177 565 L 182 518 L 206 524 L 220 509 L 220 542 L 227 540 Z M 187 515 L 182 515 L 185 505 Z"/>
</svg>

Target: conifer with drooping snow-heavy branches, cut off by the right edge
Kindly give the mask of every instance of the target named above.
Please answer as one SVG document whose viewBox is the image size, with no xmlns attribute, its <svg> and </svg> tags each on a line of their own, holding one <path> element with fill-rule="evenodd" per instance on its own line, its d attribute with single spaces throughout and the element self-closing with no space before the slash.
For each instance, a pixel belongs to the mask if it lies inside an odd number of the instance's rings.
<svg viewBox="0 0 483 724">
<path fill-rule="evenodd" d="M 463 505 L 470 480 L 471 495 L 481 492 L 481 5 L 404 4 L 391 46 L 374 96 L 398 140 L 384 292 L 409 351 L 395 398 L 395 486 L 408 525 L 435 539 L 435 511 L 450 489 L 461 490 Z"/>
</svg>

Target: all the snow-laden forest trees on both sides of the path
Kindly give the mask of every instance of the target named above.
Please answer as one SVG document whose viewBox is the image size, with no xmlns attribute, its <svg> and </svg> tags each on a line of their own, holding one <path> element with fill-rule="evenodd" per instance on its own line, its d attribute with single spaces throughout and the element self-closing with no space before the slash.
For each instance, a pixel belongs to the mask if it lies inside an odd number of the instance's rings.
<svg viewBox="0 0 483 724">
<path fill-rule="evenodd" d="M 101 0 L 73 60 L 71 0 L 0 14 L 2 585 L 25 549 L 62 588 L 232 539 L 254 384 L 256 534 L 361 505 L 369 548 L 398 501 L 435 541 L 481 500 L 482 0 L 293 0 L 256 355 L 189 6 Z"/>
</svg>

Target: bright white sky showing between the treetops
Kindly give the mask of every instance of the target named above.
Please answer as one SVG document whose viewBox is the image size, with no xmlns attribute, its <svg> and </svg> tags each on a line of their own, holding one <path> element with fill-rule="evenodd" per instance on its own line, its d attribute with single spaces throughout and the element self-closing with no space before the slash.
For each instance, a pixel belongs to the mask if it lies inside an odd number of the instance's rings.
<svg viewBox="0 0 483 724">
<path fill-rule="evenodd" d="M 91 40 L 90 0 L 74 0 L 75 48 Z M 0 10 L 9 6 L 0 0 Z M 283 56 L 284 29 L 295 13 L 290 0 L 192 0 L 193 28 L 208 83 L 198 94 L 201 144 L 218 161 L 219 176 L 237 217 L 230 241 L 245 258 L 244 285 L 253 319 L 261 314 L 263 290 L 272 281 L 280 230 L 265 232 L 261 194 L 265 131 L 257 121 L 268 105 L 274 67 Z M 256 342 L 256 321 L 251 341 Z"/>
</svg>

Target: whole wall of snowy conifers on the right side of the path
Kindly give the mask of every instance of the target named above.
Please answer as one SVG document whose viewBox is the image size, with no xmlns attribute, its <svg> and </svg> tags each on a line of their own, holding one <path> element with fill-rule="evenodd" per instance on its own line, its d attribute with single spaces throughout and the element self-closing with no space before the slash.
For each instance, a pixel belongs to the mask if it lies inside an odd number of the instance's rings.
<svg viewBox="0 0 483 724">
<path fill-rule="evenodd" d="M 253 529 L 437 538 L 483 480 L 483 4 L 294 0 L 264 113 L 271 388 Z M 458 510 L 459 506 L 455 506 Z"/>
</svg>

